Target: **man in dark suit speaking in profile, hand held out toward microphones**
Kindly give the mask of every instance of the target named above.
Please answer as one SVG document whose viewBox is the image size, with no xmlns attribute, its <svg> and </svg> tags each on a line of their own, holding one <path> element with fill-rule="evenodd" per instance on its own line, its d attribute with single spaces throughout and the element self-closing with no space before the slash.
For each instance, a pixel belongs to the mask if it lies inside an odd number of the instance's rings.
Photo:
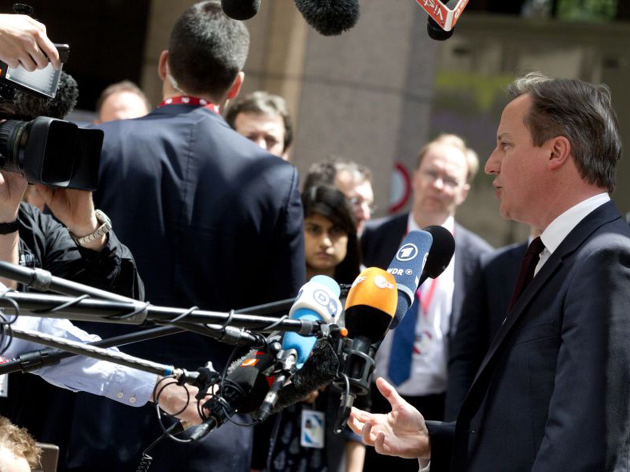
<svg viewBox="0 0 630 472">
<path fill-rule="evenodd" d="M 355 410 L 351 424 L 432 472 L 627 470 L 630 228 L 609 197 L 621 158 L 610 93 L 542 74 L 509 92 L 485 170 L 501 215 L 542 233 L 507 318 L 454 424 L 425 422 L 383 379 L 392 413 Z"/>
</svg>

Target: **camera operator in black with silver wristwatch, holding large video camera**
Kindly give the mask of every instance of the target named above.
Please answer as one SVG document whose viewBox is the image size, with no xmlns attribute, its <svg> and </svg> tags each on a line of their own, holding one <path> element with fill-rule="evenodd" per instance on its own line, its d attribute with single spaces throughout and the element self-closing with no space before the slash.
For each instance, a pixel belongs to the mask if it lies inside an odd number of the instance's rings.
<svg viewBox="0 0 630 472">
<path fill-rule="evenodd" d="M 74 108 L 78 95 L 76 81 L 62 72 L 54 99 L 15 91 L 11 103 L 0 99 L 0 115 L 19 116 L 21 120 L 38 115 L 63 119 Z M 108 218 L 95 210 L 91 192 L 36 185 L 55 220 L 21 203 L 27 186 L 20 174 L 0 170 L 1 260 L 43 267 L 55 276 L 144 298 L 134 259 L 110 231 Z M 13 281 L 0 281 L 16 288 Z"/>
</svg>

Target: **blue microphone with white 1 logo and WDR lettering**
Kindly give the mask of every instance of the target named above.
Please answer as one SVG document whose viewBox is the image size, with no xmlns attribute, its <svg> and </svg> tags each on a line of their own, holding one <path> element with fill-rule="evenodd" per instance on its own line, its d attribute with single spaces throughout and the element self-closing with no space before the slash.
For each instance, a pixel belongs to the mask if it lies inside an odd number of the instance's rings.
<svg viewBox="0 0 630 472">
<path fill-rule="evenodd" d="M 390 329 L 398 326 L 413 303 L 432 244 L 430 232 L 410 231 L 387 267 L 387 272 L 394 276 L 398 287 L 398 305 Z"/>
</svg>

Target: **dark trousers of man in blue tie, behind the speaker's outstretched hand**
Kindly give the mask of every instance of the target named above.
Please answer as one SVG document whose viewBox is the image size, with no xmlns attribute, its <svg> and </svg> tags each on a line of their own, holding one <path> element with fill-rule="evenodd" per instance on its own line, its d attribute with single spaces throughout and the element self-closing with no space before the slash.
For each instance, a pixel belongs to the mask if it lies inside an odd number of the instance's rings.
<svg viewBox="0 0 630 472">
<path fill-rule="evenodd" d="M 381 395 L 376 385 L 372 383 L 370 391 L 372 398 L 372 413 L 389 413 L 391 405 L 386 398 Z M 411 403 L 425 420 L 442 420 L 444 416 L 444 393 L 427 396 L 403 396 L 403 398 Z M 418 459 L 402 459 L 394 456 L 383 456 L 378 454 L 374 447 L 367 447 L 365 451 L 364 472 L 418 472 Z"/>
</svg>

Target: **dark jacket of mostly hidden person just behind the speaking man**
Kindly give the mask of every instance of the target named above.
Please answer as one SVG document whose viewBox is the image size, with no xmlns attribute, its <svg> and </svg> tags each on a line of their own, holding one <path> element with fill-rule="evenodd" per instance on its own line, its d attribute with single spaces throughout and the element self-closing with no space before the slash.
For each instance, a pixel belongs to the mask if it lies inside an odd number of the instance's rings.
<svg viewBox="0 0 630 472">
<path fill-rule="evenodd" d="M 527 250 L 527 242 L 512 244 L 481 256 L 471 278 L 457 334 L 450 344 L 449 377 L 444 419 L 457 418 L 483 357 L 505 319 L 510 296 Z"/>
</svg>

